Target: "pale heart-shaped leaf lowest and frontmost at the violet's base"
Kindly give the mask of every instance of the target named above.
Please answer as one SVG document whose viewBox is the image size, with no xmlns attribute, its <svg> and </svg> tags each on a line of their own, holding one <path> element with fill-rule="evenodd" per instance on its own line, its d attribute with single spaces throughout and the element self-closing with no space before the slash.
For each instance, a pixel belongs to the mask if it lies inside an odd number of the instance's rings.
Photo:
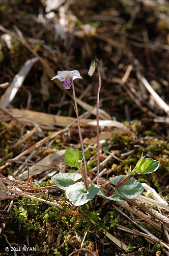
<svg viewBox="0 0 169 256">
<path fill-rule="evenodd" d="M 86 191 L 84 183 L 80 181 L 66 189 L 66 196 L 73 205 L 79 206 L 91 201 L 96 196 L 98 191 L 99 186 L 96 184 L 92 184 L 88 191 Z"/>
</svg>

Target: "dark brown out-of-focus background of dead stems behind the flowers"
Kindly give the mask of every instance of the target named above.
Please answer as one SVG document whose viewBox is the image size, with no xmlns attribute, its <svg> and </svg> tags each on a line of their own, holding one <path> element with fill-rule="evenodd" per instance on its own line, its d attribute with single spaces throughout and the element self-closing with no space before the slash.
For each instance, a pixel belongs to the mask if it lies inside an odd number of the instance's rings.
<svg viewBox="0 0 169 256">
<path fill-rule="evenodd" d="M 50 79 L 58 71 L 77 69 L 83 79 L 75 80 L 76 95 L 94 106 L 98 74 L 87 73 L 97 56 L 100 108 L 112 119 L 129 123 L 137 119 L 144 129 L 145 123 L 152 128 L 154 119 L 166 117 L 167 111 L 145 89 L 139 74 L 168 103 L 168 1 L 1 0 L 0 5 L 0 96 L 26 61 L 43 58 L 23 74 L 10 102 L 1 104 L 1 97 L 0 106 L 75 116 L 70 96 Z M 79 107 L 79 111 L 86 110 Z M 163 123 L 155 128 L 166 135 Z"/>
</svg>

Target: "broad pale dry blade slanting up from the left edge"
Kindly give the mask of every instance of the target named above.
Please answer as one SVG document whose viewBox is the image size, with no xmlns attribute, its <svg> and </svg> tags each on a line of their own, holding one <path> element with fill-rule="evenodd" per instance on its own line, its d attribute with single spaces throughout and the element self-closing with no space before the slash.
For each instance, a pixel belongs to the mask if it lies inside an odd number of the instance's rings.
<svg viewBox="0 0 169 256">
<path fill-rule="evenodd" d="M 26 75 L 29 73 L 30 69 L 34 65 L 34 63 L 38 61 L 37 57 L 31 58 L 27 60 L 21 70 L 15 75 L 13 81 L 5 91 L 5 93 L 1 96 L 0 99 L 0 107 L 6 108 L 9 103 L 14 99 L 17 91 L 21 87 Z"/>
</svg>

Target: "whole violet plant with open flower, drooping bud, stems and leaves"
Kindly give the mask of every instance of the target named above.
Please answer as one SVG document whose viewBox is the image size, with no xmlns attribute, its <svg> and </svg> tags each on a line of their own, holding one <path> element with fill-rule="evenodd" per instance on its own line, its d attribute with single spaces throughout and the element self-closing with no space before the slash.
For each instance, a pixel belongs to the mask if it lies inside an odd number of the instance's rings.
<svg viewBox="0 0 169 256">
<path fill-rule="evenodd" d="M 76 78 L 82 79 L 80 73 L 77 70 L 74 71 L 58 71 L 58 75 L 54 76 L 51 80 L 58 78 L 63 82 L 65 89 L 70 89 L 72 86 L 73 97 L 75 103 L 75 112 L 77 116 L 78 132 L 81 143 L 81 151 L 72 150 L 67 148 L 65 152 L 65 162 L 71 166 L 76 167 L 80 173 L 63 173 L 55 174 L 51 179 L 60 188 L 66 191 L 67 198 L 72 202 L 73 205 L 79 206 L 86 204 L 89 201 L 95 199 L 95 205 L 97 203 L 97 197 L 104 199 L 101 207 L 106 203 L 107 200 L 123 202 L 125 199 L 134 199 L 142 194 L 144 188 L 133 177 L 135 174 L 148 174 L 155 172 L 159 167 L 159 161 L 151 158 L 144 158 L 141 156 L 133 170 L 128 170 L 126 175 L 116 176 L 110 180 L 110 183 L 115 187 L 105 195 L 99 186 L 99 172 L 100 172 L 100 146 L 99 146 L 99 94 L 101 88 L 101 75 L 99 70 L 99 61 L 95 58 L 90 66 L 88 74 L 93 75 L 94 71 L 98 69 L 99 84 L 97 91 L 97 104 L 96 104 L 96 120 L 97 120 L 97 150 L 98 150 L 98 164 L 97 164 L 97 184 L 89 182 L 88 171 L 85 158 L 85 150 L 82 141 L 82 135 L 80 130 L 80 120 L 78 115 L 78 108 L 76 102 L 76 95 L 74 89 L 73 80 Z M 81 163 L 83 161 L 85 168 L 85 177 L 81 172 Z M 78 181 L 82 179 L 82 181 Z M 78 182 L 77 182 L 78 181 Z M 100 208 L 101 209 L 101 208 Z"/>
</svg>

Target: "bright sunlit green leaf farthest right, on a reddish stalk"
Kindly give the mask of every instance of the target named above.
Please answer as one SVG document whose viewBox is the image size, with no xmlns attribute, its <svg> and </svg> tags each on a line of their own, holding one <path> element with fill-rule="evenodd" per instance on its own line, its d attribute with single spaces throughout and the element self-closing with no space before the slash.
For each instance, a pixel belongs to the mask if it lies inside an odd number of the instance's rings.
<svg viewBox="0 0 169 256">
<path fill-rule="evenodd" d="M 150 174 L 155 172 L 159 167 L 160 162 L 152 158 L 144 158 L 136 164 L 136 172 L 138 174 Z"/>
</svg>

